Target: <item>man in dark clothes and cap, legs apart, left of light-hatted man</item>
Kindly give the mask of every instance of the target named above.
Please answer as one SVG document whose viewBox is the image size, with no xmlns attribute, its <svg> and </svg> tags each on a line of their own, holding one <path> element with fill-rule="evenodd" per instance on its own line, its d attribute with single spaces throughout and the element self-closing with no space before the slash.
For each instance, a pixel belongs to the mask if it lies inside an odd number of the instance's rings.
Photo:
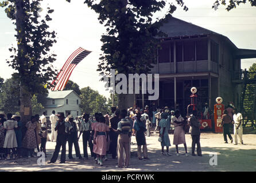
<svg viewBox="0 0 256 183">
<path fill-rule="evenodd" d="M 48 164 L 52 164 L 56 162 L 59 156 L 60 147 L 61 147 L 60 163 L 64 164 L 66 161 L 66 144 L 67 144 L 68 134 L 65 132 L 64 118 L 65 118 L 64 113 L 60 113 L 59 121 L 57 121 L 57 125 L 55 127 L 55 131 L 57 130 L 57 141 L 56 141 L 55 151 L 53 153 L 51 161 L 48 162 Z"/>
</svg>

